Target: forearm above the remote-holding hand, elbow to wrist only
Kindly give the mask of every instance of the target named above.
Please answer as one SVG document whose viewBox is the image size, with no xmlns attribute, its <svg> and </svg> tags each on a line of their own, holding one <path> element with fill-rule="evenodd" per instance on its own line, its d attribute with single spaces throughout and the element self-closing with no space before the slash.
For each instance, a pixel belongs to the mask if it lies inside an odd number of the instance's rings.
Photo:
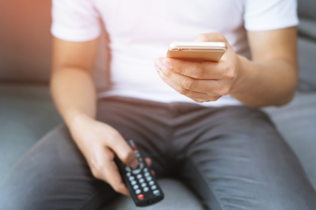
<svg viewBox="0 0 316 210">
<path fill-rule="evenodd" d="M 72 129 L 78 118 L 95 118 L 96 91 L 90 73 L 75 67 L 55 69 L 50 90 L 65 123 Z"/>
</svg>

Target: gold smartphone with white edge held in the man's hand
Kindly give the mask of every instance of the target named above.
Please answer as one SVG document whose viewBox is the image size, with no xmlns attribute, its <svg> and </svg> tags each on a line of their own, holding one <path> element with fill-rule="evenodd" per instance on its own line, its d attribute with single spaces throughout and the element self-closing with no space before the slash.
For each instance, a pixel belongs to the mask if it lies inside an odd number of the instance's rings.
<svg viewBox="0 0 316 210">
<path fill-rule="evenodd" d="M 218 62 L 226 50 L 224 42 L 172 42 L 167 57 L 194 62 Z"/>
</svg>

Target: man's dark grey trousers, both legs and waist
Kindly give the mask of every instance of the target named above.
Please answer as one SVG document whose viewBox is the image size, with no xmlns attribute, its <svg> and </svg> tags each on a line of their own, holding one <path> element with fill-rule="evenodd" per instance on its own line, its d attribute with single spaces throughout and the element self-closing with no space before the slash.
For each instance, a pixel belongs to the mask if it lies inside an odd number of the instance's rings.
<svg viewBox="0 0 316 210">
<path fill-rule="evenodd" d="M 132 137 L 157 178 L 181 180 L 206 209 L 316 209 L 300 163 L 257 109 L 112 97 L 98 102 L 98 120 Z M 118 196 L 93 178 L 65 126 L 42 138 L 1 183 L 4 210 L 98 210 Z"/>
</svg>

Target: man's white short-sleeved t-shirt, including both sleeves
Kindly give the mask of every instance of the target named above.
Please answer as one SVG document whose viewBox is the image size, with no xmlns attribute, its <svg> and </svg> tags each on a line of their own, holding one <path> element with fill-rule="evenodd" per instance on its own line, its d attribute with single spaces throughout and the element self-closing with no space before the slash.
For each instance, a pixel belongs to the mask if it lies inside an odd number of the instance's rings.
<svg viewBox="0 0 316 210">
<path fill-rule="evenodd" d="M 111 89 L 100 97 L 128 96 L 160 102 L 192 102 L 157 74 L 156 57 L 172 41 L 193 41 L 221 32 L 236 53 L 250 57 L 246 30 L 266 31 L 298 24 L 295 0 L 52 0 L 54 36 L 88 41 L 99 36 L 102 19 L 110 36 Z M 106 77 L 104 75 L 104 77 Z M 230 96 L 207 106 L 240 104 Z"/>
</svg>

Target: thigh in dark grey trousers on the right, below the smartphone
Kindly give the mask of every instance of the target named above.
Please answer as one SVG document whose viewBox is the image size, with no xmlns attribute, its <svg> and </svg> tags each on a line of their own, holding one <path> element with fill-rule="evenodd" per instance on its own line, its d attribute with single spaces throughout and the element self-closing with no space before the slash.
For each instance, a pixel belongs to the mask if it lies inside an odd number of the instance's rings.
<svg viewBox="0 0 316 210">
<path fill-rule="evenodd" d="M 189 130 L 190 137 L 175 136 L 174 145 L 182 144 L 175 151 L 182 154 L 179 178 L 205 206 L 212 210 L 316 206 L 314 189 L 266 114 L 242 106 L 199 112 L 190 128 L 179 126 Z"/>
</svg>

